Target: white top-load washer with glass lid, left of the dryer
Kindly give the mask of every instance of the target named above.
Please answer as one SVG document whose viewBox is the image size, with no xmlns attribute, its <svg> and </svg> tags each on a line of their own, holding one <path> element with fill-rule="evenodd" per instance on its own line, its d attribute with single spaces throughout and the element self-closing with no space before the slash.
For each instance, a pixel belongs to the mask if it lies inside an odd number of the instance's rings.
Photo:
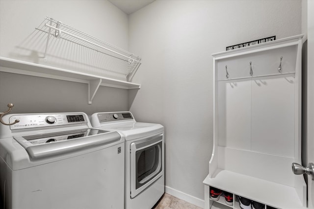
<svg viewBox="0 0 314 209">
<path fill-rule="evenodd" d="M 122 209 L 124 137 L 84 113 L 11 114 L 0 124 L 5 209 Z"/>
</svg>

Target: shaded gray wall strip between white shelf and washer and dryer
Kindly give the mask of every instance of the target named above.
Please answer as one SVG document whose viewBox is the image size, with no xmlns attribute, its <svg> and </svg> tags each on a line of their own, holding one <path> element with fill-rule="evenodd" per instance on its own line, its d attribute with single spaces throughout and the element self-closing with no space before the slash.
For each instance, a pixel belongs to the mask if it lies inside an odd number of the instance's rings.
<svg viewBox="0 0 314 209">
<path fill-rule="evenodd" d="M 127 111 L 128 90 L 101 86 L 88 104 L 87 84 L 0 72 L 0 107 L 12 113 Z"/>
</svg>

